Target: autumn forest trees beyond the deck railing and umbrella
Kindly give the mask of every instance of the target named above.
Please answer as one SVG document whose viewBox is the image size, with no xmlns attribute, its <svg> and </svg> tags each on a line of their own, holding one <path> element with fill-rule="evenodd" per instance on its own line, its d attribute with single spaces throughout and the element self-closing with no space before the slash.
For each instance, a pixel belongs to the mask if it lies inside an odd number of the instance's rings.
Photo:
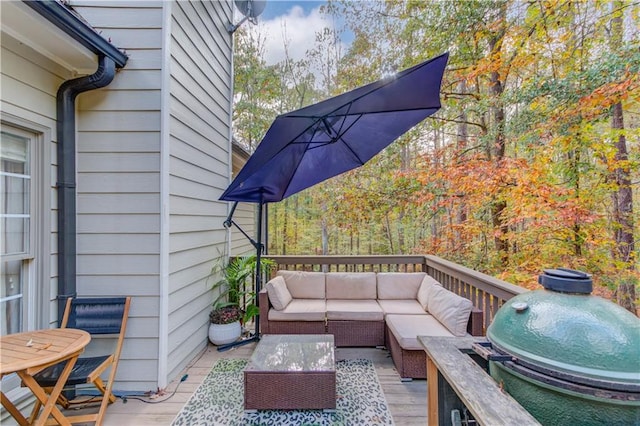
<svg viewBox="0 0 640 426">
<path fill-rule="evenodd" d="M 448 51 L 442 108 L 365 166 L 270 204 L 270 254 L 435 254 L 527 288 L 563 266 L 636 312 L 640 2 L 321 12 L 341 26 L 303 60 L 267 65 L 264 36 L 236 32 L 234 137 L 249 152 L 278 114 Z"/>
</svg>

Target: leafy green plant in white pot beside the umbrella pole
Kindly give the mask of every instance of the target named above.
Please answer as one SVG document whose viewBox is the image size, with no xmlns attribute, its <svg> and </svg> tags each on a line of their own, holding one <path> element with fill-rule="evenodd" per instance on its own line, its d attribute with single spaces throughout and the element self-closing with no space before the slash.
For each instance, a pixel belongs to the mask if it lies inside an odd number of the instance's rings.
<svg viewBox="0 0 640 426">
<path fill-rule="evenodd" d="M 269 259 L 263 259 L 260 263 L 263 273 L 274 264 Z M 214 266 L 212 274 L 220 278 L 213 285 L 213 289 L 218 291 L 218 297 L 209 314 L 209 340 L 213 344 L 234 342 L 242 335 L 242 325 L 246 325 L 258 314 L 256 294 L 251 282 L 255 270 L 255 255 L 234 257 L 229 262 L 221 257 Z"/>
</svg>

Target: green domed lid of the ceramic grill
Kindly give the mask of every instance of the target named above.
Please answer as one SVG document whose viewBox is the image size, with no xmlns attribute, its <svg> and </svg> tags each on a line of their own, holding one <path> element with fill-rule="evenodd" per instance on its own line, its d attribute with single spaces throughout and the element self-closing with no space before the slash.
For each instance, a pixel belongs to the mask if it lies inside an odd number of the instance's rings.
<svg viewBox="0 0 640 426">
<path fill-rule="evenodd" d="M 548 272 L 552 281 L 558 278 Z M 576 382 L 595 379 L 613 389 L 640 385 L 640 319 L 597 296 L 550 290 L 520 294 L 498 310 L 487 337 L 517 359 Z"/>
</svg>

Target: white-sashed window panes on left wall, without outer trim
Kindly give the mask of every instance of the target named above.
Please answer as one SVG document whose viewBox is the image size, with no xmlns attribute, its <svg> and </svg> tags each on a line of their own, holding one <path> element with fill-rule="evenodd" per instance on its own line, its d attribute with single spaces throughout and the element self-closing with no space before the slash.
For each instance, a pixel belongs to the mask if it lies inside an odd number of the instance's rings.
<svg viewBox="0 0 640 426">
<path fill-rule="evenodd" d="M 33 165 L 37 134 L 2 125 L 0 131 L 0 327 L 26 330 L 34 270 Z M 32 317 L 32 315 L 31 315 Z"/>
</svg>

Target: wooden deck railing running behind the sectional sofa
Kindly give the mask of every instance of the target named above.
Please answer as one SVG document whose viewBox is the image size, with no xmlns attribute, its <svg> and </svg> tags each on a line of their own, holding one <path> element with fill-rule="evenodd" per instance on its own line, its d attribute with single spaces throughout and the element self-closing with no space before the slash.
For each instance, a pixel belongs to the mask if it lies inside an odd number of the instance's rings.
<svg viewBox="0 0 640 426">
<path fill-rule="evenodd" d="M 437 256 L 265 256 L 276 262 L 276 270 L 317 272 L 427 272 L 456 294 L 484 311 L 485 330 L 498 309 L 526 289 L 499 280 Z M 270 277 L 264 277 L 265 280 Z"/>
</svg>

